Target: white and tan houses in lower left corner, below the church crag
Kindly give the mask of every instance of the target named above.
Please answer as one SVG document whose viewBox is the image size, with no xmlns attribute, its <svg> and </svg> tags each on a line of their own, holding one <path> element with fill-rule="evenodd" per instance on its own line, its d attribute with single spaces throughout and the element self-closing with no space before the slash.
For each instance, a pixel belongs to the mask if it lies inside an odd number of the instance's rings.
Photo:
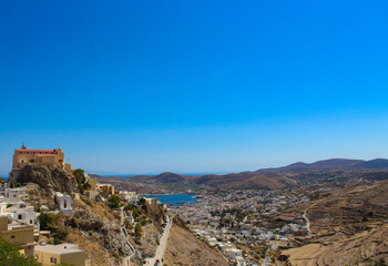
<svg viewBox="0 0 388 266">
<path fill-rule="evenodd" d="M 57 193 L 59 211 L 72 214 L 71 197 Z M 57 212 L 59 212 L 57 211 Z M 42 265 L 67 263 L 74 266 L 85 265 L 85 253 L 75 244 L 49 245 L 40 241 L 37 213 L 28 203 L 28 194 L 23 188 L 8 187 L 6 182 L 0 186 L 0 237 L 20 248 L 25 256 L 34 256 Z"/>
</svg>

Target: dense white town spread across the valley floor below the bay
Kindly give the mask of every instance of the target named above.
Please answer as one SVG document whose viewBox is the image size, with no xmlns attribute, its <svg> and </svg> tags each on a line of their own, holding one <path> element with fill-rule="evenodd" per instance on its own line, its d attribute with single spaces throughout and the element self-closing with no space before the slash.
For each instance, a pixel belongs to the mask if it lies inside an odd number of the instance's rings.
<svg viewBox="0 0 388 266">
<path fill-rule="evenodd" d="M 177 207 L 175 212 L 200 238 L 217 247 L 229 262 L 251 265 L 255 262 L 254 250 L 248 256 L 234 244 L 265 244 L 270 249 L 273 243 L 287 246 L 290 237 L 306 233 L 305 221 L 300 216 L 299 221 L 276 224 L 272 218 L 287 205 L 300 201 L 306 198 L 265 191 L 228 191 L 201 196 L 197 204 Z"/>
</svg>

